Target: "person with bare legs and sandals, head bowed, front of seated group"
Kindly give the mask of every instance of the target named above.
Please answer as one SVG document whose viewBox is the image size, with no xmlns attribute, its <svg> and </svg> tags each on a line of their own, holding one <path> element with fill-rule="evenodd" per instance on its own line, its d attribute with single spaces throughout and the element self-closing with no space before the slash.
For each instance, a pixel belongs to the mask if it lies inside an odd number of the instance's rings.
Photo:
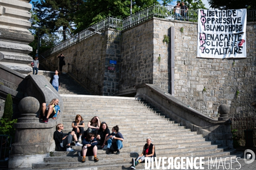
<svg viewBox="0 0 256 170">
<path fill-rule="evenodd" d="M 99 159 L 97 158 L 97 140 L 94 138 L 93 133 L 89 133 L 86 138 L 82 140 L 82 163 L 85 162 L 85 156 L 94 156 L 94 161 L 97 162 Z"/>
</svg>

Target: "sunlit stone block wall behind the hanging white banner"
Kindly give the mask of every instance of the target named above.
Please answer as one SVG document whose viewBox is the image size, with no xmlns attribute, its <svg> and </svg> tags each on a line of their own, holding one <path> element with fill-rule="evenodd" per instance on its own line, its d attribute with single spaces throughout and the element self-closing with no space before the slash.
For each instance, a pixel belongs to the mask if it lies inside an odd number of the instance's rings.
<svg viewBox="0 0 256 170">
<path fill-rule="evenodd" d="M 154 19 L 154 24 L 159 32 L 159 39 L 154 38 L 154 42 L 157 41 L 154 49 L 162 46 L 161 40 L 168 28 L 175 27 L 176 98 L 212 118 L 218 117 L 220 104 L 230 105 L 232 116 L 255 116 L 256 109 L 250 103 L 256 100 L 256 23 L 247 23 L 247 58 L 243 59 L 197 58 L 197 23 Z M 154 37 L 155 32 L 154 29 Z M 154 51 L 154 56 L 156 53 Z M 158 53 L 161 58 L 168 55 L 164 50 Z M 166 68 L 167 63 L 160 63 L 160 68 L 161 64 Z M 166 69 L 161 71 L 167 73 Z M 154 69 L 154 75 L 160 73 Z M 159 87 L 167 91 L 161 83 Z"/>
</svg>

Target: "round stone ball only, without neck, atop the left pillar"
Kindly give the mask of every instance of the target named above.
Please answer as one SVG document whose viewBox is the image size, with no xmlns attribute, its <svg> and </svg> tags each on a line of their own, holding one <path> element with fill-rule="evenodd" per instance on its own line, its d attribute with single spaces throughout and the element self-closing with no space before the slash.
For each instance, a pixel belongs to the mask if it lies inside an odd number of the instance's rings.
<svg viewBox="0 0 256 170">
<path fill-rule="evenodd" d="M 39 101 L 33 97 L 25 97 L 19 103 L 21 113 L 36 113 L 40 107 Z"/>
</svg>

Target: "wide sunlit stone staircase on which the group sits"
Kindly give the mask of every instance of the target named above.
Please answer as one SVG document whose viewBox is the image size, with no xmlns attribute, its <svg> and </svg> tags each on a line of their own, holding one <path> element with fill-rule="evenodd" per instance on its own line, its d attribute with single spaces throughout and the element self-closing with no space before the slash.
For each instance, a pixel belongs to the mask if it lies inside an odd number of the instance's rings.
<svg viewBox="0 0 256 170">
<path fill-rule="evenodd" d="M 115 125 L 124 136 L 121 154 L 107 155 L 106 150 L 98 150 L 100 161 L 94 162 L 92 156 L 78 156 L 81 147 L 73 147 L 73 152 L 53 152 L 53 157 L 44 158 L 44 163 L 33 164 L 33 169 L 86 169 L 121 170 L 130 169 L 131 159 L 142 152 L 147 136 L 151 136 L 156 147 L 157 157 L 209 157 L 215 159 L 241 156 L 235 149 L 206 141 L 202 135 L 185 129 L 171 118 L 163 115 L 143 99 L 128 97 L 109 97 L 92 95 L 61 95 L 65 111 L 63 113 L 64 133 L 72 130 L 71 123 L 77 114 L 82 115 L 85 130 L 88 121 L 99 116 L 111 130 Z M 161 165 L 162 166 L 162 165 Z M 168 164 L 166 165 L 168 166 Z M 136 169 L 144 169 L 144 163 Z"/>
</svg>

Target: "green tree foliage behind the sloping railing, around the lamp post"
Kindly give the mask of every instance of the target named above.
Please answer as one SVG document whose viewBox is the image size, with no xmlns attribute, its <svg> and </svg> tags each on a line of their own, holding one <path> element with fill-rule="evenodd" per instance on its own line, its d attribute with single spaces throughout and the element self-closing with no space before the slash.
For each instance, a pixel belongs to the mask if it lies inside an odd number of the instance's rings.
<svg viewBox="0 0 256 170">
<path fill-rule="evenodd" d="M 132 0 L 132 13 L 153 3 L 158 2 L 157 0 Z M 121 18 L 129 16 L 130 0 L 84 0 L 75 14 L 75 26 L 77 27 L 75 32 L 82 31 L 109 15 Z"/>
</svg>

